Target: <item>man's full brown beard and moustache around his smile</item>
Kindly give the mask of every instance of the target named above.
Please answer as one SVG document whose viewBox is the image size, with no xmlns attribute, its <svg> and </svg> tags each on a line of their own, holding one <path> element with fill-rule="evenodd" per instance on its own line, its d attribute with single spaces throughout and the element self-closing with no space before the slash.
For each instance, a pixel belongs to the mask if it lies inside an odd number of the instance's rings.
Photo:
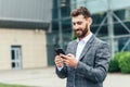
<svg viewBox="0 0 130 87">
<path fill-rule="evenodd" d="M 86 25 L 86 28 L 78 28 L 75 30 L 75 35 L 77 38 L 86 37 L 87 33 L 88 33 L 88 25 Z"/>
</svg>

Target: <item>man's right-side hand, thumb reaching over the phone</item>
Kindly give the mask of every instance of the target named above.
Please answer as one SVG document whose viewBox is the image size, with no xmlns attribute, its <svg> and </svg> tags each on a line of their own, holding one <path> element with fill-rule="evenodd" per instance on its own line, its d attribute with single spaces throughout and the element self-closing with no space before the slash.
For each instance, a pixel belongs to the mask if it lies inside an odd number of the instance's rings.
<svg viewBox="0 0 130 87">
<path fill-rule="evenodd" d="M 64 63 L 69 67 L 76 67 L 78 64 L 78 61 L 76 60 L 74 54 L 61 54 L 61 58 L 63 58 Z"/>
</svg>

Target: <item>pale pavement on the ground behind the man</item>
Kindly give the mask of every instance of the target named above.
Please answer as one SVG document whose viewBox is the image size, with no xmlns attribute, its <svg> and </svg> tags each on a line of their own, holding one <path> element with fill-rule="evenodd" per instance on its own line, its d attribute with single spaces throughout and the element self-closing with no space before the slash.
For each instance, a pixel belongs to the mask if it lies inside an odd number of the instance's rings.
<svg viewBox="0 0 130 87">
<path fill-rule="evenodd" d="M 55 75 L 53 66 L 32 70 L 0 71 L 0 83 L 30 87 L 65 87 L 66 79 Z M 130 74 L 108 73 L 104 87 L 130 87 Z"/>
</svg>

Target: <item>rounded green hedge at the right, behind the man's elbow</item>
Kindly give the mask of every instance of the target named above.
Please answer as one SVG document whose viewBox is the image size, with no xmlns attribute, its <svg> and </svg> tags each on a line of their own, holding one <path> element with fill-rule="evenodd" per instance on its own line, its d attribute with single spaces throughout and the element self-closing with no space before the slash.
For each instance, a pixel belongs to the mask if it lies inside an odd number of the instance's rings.
<svg viewBox="0 0 130 87">
<path fill-rule="evenodd" d="M 112 58 L 108 72 L 130 73 L 130 52 L 117 52 Z"/>
</svg>

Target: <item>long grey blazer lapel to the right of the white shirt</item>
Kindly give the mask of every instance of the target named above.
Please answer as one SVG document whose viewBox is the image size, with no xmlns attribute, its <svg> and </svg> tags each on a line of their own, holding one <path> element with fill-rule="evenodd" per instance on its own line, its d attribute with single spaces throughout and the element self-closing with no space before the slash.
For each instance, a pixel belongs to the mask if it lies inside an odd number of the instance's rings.
<svg viewBox="0 0 130 87">
<path fill-rule="evenodd" d="M 94 40 L 94 35 L 92 35 L 92 37 L 88 40 L 88 42 L 86 44 L 81 54 L 80 54 L 80 58 L 79 60 L 81 60 L 83 58 L 83 55 L 87 53 L 87 51 L 90 49 L 90 47 L 92 46 L 92 42 Z"/>
</svg>

